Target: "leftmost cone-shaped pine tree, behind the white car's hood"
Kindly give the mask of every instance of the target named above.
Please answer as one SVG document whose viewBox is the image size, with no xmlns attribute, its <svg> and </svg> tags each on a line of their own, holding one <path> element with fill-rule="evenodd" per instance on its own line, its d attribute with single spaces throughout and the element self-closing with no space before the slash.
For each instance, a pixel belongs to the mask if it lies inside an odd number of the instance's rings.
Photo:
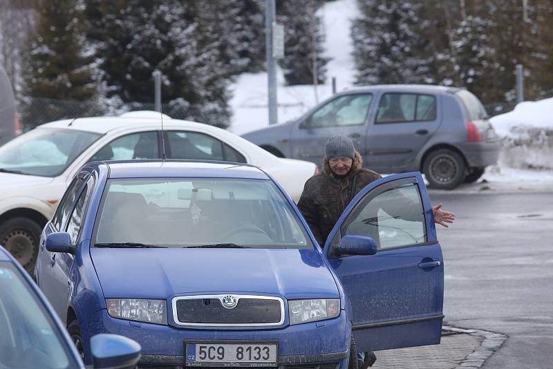
<svg viewBox="0 0 553 369">
<path fill-rule="evenodd" d="M 84 55 L 82 24 L 76 8 L 75 0 L 41 0 L 37 3 L 39 21 L 30 37 L 25 61 L 24 95 L 55 100 L 89 100 L 95 94 L 91 57 Z M 31 100 L 26 111 L 36 111 L 39 104 L 37 100 Z M 50 102 L 43 115 L 44 121 L 48 121 L 69 117 L 73 113 L 61 103 Z"/>
</svg>

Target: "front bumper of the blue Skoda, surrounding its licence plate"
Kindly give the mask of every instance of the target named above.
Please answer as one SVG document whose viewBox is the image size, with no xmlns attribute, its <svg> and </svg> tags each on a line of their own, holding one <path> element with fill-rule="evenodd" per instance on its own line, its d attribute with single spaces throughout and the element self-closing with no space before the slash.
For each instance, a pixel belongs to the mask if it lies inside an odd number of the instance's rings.
<svg viewBox="0 0 553 369">
<path fill-rule="evenodd" d="M 167 368 L 184 366 L 185 341 L 276 341 L 279 345 L 279 368 L 316 363 L 332 364 L 328 369 L 345 368 L 351 334 L 350 322 L 344 310 L 335 319 L 267 330 L 182 329 L 171 325 L 113 319 L 106 310 L 96 312 L 86 321 L 91 323 L 81 323 L 85 342 L 97 333 L 121 334 L 142 346 L 141 365 L 162 365 Z"/>
</svg>

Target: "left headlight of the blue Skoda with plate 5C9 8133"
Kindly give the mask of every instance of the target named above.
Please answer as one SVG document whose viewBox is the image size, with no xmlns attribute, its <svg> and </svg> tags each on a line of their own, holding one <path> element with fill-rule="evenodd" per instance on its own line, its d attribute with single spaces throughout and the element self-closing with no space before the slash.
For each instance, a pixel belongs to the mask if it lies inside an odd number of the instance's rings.
<svg viewBox="0 0 553 369">
<path fill-rule="evenodd" d="M 165 300 L 106 299 L 108 314 L 112 318 L 167 324 Z"/>
</svg>

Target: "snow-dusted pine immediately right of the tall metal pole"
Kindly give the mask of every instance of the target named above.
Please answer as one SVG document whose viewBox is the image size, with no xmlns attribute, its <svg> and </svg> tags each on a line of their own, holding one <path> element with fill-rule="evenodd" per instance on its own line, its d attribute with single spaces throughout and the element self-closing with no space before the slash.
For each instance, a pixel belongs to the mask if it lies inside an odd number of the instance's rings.
<svg viewBox="0 0 553 369">
<path fill-rule="evenodd" d="M 324 83 L 328 59 L 322 56 L 318 0 L 283 0 L 277 19 L 285 30 L 285 57 L 279 60 L 288 85 Z M 316 75 L 316 78 L 315 78 Z"/>
</svg>

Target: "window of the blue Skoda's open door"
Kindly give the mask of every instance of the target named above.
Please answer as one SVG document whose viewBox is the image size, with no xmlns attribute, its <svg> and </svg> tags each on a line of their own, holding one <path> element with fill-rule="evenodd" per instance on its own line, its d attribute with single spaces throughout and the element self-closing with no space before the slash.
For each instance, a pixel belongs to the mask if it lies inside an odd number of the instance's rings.
<svg viewBox="0 0 553 369">
<path fill-rule="evenodd" d="M 409 183 L 387 189 L 363 201 L 350 214 L 341 234 L 371 237 L 378 249 L 427 242 L 424 207 L 418 185 Z"/>
</svg>

